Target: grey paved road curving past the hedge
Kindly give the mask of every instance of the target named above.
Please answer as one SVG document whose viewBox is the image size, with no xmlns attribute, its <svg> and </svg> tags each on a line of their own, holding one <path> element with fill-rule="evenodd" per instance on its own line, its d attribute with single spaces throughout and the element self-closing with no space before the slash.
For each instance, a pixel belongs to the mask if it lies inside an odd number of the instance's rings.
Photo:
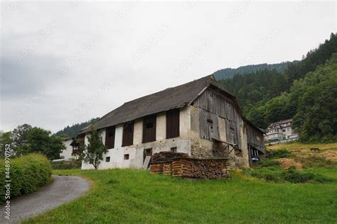
<svg viewBox="0 0 337 224">
<path fill-rule="evenodd" d="M 81 177 L 52 176 L 54 181 L 40 191 L 11 199 L 11 219 L 4 218 L 1 205 L 0 223 L 18 223 L 33 215 L 44 213 L 64 203 L 73 201 L 90 189 L 90 183 Z"/>
</svg>

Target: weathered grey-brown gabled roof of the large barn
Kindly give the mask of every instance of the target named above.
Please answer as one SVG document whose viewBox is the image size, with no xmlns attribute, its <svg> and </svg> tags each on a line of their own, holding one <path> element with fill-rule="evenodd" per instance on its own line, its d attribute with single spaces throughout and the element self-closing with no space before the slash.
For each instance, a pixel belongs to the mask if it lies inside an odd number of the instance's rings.
<svg viewBox="0 0 337 224">
<path fill-rule="evenodd" d="M 232 96 L 241 113 L 240 106 L 237 103 L 235 96 L 233 96 L 233 94 L 231 94 L 221 84 L 216 82 L 212 75 L 209 75 L 186 84 L 164 89 L 163 91 L 156 92 L 155 94 L 143 96 L 139 99 L 134 99 L 133 101 L 124 103 L 122 106 L 119 106 L 100 118 L 100 120 L 94 124 L 94 128 L 106 128 L 112 125 L 133 121 L 137 118 L 149 116 L 154 113 L 169 111 L 173 108 L 183 108 L 191 105 L 191 103 L 193 103 L 193 101 L 196 100 L 198 96 L 200 96 L 200 94 L 202 94 L 203 91 L 211 85 Z M 86 133 L 89 130 L 90 127 L 86 127 L 83 128 L 80 133 Z"/>
</svg>

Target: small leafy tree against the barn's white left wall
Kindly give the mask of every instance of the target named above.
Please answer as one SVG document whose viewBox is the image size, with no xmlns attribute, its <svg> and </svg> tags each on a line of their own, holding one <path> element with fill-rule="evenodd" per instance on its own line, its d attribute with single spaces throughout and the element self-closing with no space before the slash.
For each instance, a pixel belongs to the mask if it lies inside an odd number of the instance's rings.
<svg viewBox="0 0 337 224">
<path fill-rule="evenodd" d="M 95 167 L 98 168 L 101 160 L 103 159 L 103 153 L 107 152 L 107 147 L 102 142 L 102 137 L 97 130 L 91 125 L 90 136 L 88 136 L 88 144 L 85 145 L 85 150 L 83 152 L 83 160 L 85 162 L 90 162 Z"/>
</svg>

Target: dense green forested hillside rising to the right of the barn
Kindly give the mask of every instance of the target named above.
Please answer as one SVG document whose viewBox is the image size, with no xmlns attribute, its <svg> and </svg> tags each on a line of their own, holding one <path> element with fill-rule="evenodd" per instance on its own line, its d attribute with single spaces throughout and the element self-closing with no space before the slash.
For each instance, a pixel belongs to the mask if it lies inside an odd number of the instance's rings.
<svg viewBox="0 0 337 224">
<path fill-rule="evenodd" d="M 337 36 L 309 51 L 284 72 L 263 69 L 220 82 L 239 99 L 244 115 L 260 128 L 294 117 L 306 141 L 336 138 Z M 326 63 L 326 64 L 325 64 Z M 325 65 L 324 65 L 325 64 Z M 311 99 L 310 99 L 311 98 Z"/>
</svg>

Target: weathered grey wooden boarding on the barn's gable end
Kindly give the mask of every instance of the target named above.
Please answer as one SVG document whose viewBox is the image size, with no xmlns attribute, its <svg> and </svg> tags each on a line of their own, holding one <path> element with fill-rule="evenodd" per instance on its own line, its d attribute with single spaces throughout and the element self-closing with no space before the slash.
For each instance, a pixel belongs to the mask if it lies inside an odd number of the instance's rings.
<svg viewBox="0 0 337 224">
<path fill-rule="evenodd" d="M 242 148 L 240 142 L 240 124 L 242 124 L 242 118 L 229 96 L 226 96 L 217 89 L 208 88 L 194 101 L 193 106 L 200 108 L 200 138 L 210 140 L 207 134 L 207 118 L 213 119 L 213 125 L 215 126 L 216 123 L 215 127 L 218 130 L 218 116 L 220 116 L 221 118 L 225 118 L 227 141 L 237 144 Z M 218 133 L 215 133 L 215 135 L 219 136 L 219 131 L 223 130 L 218 130 Z"/>
</svg>

